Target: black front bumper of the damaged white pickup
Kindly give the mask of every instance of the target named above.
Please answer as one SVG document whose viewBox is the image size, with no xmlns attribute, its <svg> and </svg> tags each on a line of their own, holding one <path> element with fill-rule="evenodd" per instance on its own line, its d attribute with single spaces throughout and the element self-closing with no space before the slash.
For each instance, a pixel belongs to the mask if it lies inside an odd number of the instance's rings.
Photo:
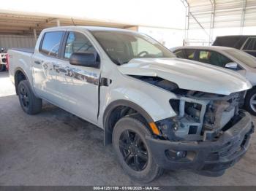
<svg viewBox="0 0 256 191">
<path fill-rule="evenodd" d="M 234 165 L 249 147 L 254 125 L 249 113 L 226 130 L 216 141 L 165 141 L 146 136 L 156 163 L 165 169 L 190 169 L 206 176 L 220 176 Z M 168 150 L 185 151 L 181 159 L 168 157 Z"/>
</svg>

